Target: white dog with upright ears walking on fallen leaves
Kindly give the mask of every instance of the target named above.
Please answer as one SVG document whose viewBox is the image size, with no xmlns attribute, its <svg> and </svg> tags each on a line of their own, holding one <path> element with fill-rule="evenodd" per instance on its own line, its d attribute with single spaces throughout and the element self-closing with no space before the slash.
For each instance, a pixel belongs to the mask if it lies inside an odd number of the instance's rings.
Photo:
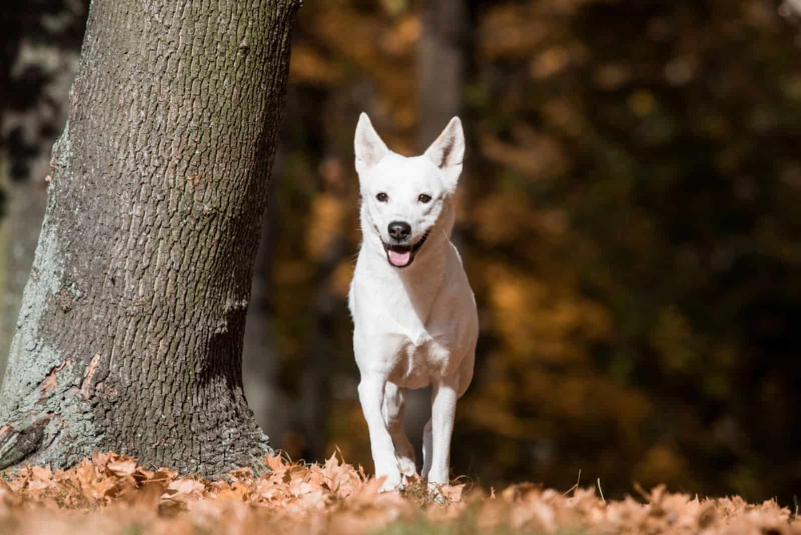
<svg viewBox="0 0 801 535">
<path fill-rule="evenodd" d="M 361 114 L 356 126 L 362 243 L 348 296 L 359 400 L 382 490 L 416 473 L 404 430 L 406 388 L 433 384 L 423 473 L 449 482 L 456 401 L 473 378 L 478 315 L 450 242 L 465 135 L 454 117 L 424 155 L 388 150 Z"/>
</svg>

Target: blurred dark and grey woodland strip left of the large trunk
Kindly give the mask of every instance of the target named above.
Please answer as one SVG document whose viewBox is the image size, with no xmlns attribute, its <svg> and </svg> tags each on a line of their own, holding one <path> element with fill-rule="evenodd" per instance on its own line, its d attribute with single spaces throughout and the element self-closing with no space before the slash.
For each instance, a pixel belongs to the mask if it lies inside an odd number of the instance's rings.
<svg viewBox="0 0 801 535">
<path fill-rule="evenodd" d="M 0 22 L 0 381 L 47 202 L 50 149 L 66 122 L 88 3 L 9 6 Z M 38 16 L 34 16 L 38 14 Z M 45 14 L 52 14 L 45 25 Z"/>
</svg>

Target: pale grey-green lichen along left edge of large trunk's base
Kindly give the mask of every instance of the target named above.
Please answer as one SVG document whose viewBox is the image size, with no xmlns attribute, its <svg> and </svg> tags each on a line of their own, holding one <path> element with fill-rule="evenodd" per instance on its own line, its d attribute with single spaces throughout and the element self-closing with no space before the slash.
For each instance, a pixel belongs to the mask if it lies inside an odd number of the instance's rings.
<svg viewBox="0 0 801 535">
<path fill-rule="evenodd" d="M 54 144 L 53 162 L 64 175 L 69 173 L 69 122 Z M 49 344 L 40 332 L 42 316 L 54 305 L 58 306 L 63 292 L 70 292 L 64 285 L 66 253 L 59 246 L 58 223 L 53 220 L 57 202 L 55 195 L 50 195 L 34 268 L 22 296 L 22 309 L 11 341 L 7 379 L 0 390 L 0 415 L 18 430 L 15 436 L 6 433 L 7 440 L 3 440 L 0 432 L 2 468 L 23 459 L 40 464 L 71 464 L 102 440 L 102 433 L 95 428 L 91 406 L 81 396 L 77 381 L 83 373 L 80 362 Z M 5 457 L 9 449 L 14 455 Z M 22 458 L 16 458 L 22 453 Z"/>
</svg>

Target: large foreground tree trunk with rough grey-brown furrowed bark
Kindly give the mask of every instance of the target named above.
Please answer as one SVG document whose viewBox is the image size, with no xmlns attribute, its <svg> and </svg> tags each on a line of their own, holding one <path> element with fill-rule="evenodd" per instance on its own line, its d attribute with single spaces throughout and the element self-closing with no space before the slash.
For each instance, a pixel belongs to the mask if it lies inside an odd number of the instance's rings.
<svg viewBox="0 0 801 535">
<path fill-rule="evenodd" d="M 298 0 L 95 0 L 0 392 L 0 467 L 220 473 Z"/>
</svg>

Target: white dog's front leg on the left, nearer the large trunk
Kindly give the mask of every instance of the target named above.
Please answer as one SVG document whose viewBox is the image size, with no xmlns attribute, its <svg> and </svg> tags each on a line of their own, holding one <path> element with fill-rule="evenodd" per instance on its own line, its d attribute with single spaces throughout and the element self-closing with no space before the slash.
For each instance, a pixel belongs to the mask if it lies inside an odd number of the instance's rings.
<svg viewBox="0 0 801 535">
<path fill-rule="evenodd" d="M 381 485 L 381 492 L 394 490 L 400 485 L 395 446 L 392 445 L 392 437 L 389 436 L 387 424 L 381 414 L 386 382 L 387 378 L 384 376 L 363 374 L 359 383 L 359 401 L 370 432 L 370 449 L 372 462 L 376 465 L 376 478 L 386 477 Z"/>
</svg>

